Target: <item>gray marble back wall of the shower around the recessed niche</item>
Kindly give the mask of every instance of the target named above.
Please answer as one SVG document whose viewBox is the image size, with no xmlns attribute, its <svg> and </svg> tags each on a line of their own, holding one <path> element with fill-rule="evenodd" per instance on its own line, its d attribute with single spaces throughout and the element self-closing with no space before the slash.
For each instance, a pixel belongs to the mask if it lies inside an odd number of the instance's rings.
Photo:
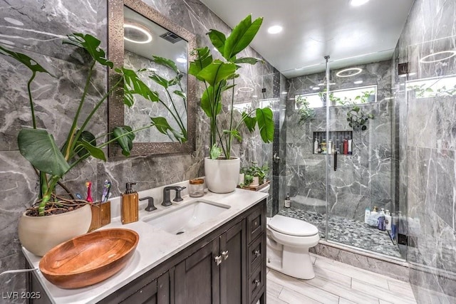
<svg viewBox="0 0 456 304">
<path fill-rule="evenodd" d="M 377 85 L 377 103 L 360 105 L 366 113 L 375 115 L 365 131 L 348 126 L 346 113 L 350 106 L 332 106 L 326 121 L 326 108 L 316 108 L 313 120 L 299 122 L 294 110 L 294 100 L 286 107 L 286 177 L 287 191 L 296 206 L 325 213 L 326 155 L 313 154 L 314 132 L 353 130 L 353 155 L 338 155 L 338 169 L 333 171 L 331 155 L 328 175 L 328 210 L 333 215 L 347 219 L 364 220 L 366 207 L 393 209 L 391 207 L 391 78 L 390 61 L 356 65 L 363 71 L 356 79 L 339 78 L 339 70 L 331 70 L 336 85 L 331 90 L 353 88 L 353 80 L 363 80 L 362 86 Z M 351 67 L 352 68 L 352 67 Z M 289 98 L 294 95 L 314 93 L 312 87 L 321 83 L 324 73 L 292 78 Z M 310 198 L 310 199 L 309 199 Z"/>
</svg>

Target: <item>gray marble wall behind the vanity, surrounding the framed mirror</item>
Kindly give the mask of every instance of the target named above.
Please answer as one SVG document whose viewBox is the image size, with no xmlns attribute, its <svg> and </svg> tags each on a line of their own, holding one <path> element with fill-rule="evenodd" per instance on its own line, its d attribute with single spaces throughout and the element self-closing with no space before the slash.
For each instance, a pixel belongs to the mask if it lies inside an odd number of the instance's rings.
<svg viewBox="0 0 456 304">
<path fill-rule="evenodd" d="M 209 28 L 229 33 L 229 27 L 212 14 L 199 0 L 147 0 L 147 4 L 197 34 L 197 46 L 210 45 L 205 35 Z M 31 1 L 0 0 L 0 42 L 13 51 L 35 58 L 56 78 L 38 75 L 33 85 L 38 125 L 46 127 L 62 142 L 70 127 L 73 112 L 78 105 L 85 81 L 86 66 L 83 58 L 73 48 L 62 45 L 68 33 L 90 33 L 107 45 L 107 0 L 87 1 Z M 254 16 L 256 18 L 257 16 Z M 244 56 L 259 57 L 252 49 Z M 24 66 L 0 57 L 2 73 L 0 90 L 0 272 L 24 267 L 24 257 L 17 235 L 19 215 L 36 196 L 37 182 L 28 162 L 19 154 L 16 137 L 21 126 L 31 125 L 26 82 L 30 73 Z M 273 92 L 273 83 L 257 83 L 259 75 L 271 75 L 274 68 L 266 64 L 246 66 L 240 70 L 239 86 L 264 88 Z M 94 88 L 88 96 L 88 108 L 106 90 L 107 73 L 100 68 L 93 80 Z M 202 86 L 197 95 L 202 93 Z M 259 95 L 260 96 L 260 95 Z M 237 96 L 238 98 L 239 96 Z M 198 100 L 192 100 L 197 102 Z M 226 110 L 226 109 L 224 109 Z M 84 110 L 87 111 L 87 110 Z M 90 130 L 97 135 L 107 129 L 106 111 L 100 110 Z M 143 190 L 180 182 L 204 174 L 203 157 L 208 152 L 209 125 L 204 113 L 197 113 L 196 151 L 192 154 L 132 157 L 130 159 L 99 162 L 92 160 L 75 168 L 65 179 L 73 192 L 85 192 L 84 183 L 91 179 L 93 189 L 100 189 L 105 179 L 113 182 L 113 196 L 125 190 L 125 182 L 137 182 L 136 189 Z M 263 145 L 259 134 L 244 136 L 244 142 L 234 145 L 234 154 L 249 156 L 247 161 L 269 157 L 271 144 Z M 266 155 L 266 156 L 264 156 Z M 172 168 L 172 169 L 170 169 Z M 99 195 L 98 195 L 99 196 Z M 98 197 L 97 197 L 98 198 Z M 2 276 L 2 291 L 21 291 L 25 276 Z M 19 301 L 20 302 L 20 301 Z"/>
</svg>

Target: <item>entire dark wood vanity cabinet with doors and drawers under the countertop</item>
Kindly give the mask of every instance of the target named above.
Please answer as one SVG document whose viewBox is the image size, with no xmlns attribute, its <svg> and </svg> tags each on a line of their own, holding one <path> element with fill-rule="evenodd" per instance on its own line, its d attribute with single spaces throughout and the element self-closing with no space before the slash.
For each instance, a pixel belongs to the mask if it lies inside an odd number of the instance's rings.
<svg viewBox="0 0 456 304">
<path fill-rule="evenodd" d="M 266 200 L 99 303 L 266 303 Z"/>
</svg>

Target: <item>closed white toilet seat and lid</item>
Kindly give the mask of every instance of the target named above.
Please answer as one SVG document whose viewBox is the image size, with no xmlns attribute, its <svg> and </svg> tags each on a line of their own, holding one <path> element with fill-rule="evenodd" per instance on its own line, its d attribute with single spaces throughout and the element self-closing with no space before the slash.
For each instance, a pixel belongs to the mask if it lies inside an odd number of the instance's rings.
<svg viewBox="0 0 456 304">
<path fill-rule="evenodd" d="M 316 226 L 300 219 L 293 219 L 279 214 L 276 214 L 270 219 L 267 222 L 267 226 L 287 236 L 315 236 L 318 234 L 318 228 Z"/>
</svg>

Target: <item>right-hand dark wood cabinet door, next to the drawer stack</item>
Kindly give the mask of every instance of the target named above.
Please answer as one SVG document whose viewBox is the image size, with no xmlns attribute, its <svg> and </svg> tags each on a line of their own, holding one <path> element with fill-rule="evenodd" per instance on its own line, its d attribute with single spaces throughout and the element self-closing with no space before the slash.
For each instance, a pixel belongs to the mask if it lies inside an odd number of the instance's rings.
<svg viewBox="0 0 456 304">
<path fill-rule="evenodd" d="M 247 249 L 245 221 L 241 221 L 220 239 L 220 304 L 247 302 Z"/>
</svg>

